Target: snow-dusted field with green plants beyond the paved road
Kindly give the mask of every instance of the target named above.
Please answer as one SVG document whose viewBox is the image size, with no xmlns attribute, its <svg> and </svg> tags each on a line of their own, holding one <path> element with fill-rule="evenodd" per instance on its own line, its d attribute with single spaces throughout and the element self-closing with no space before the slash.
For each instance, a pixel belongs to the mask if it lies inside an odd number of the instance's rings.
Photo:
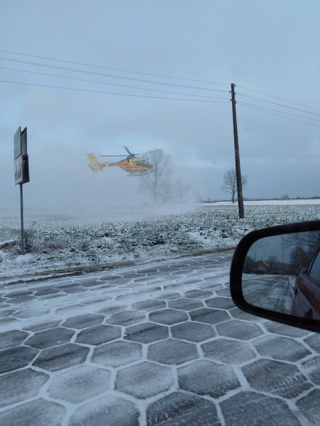
<svg viewBox="0 0 320 426">
<path fill-rule="evenodd" d="M 320 219 L 320 200 L 0 210 L 0 281 L 233 248 L 251 230 Z"/>
</svg>

